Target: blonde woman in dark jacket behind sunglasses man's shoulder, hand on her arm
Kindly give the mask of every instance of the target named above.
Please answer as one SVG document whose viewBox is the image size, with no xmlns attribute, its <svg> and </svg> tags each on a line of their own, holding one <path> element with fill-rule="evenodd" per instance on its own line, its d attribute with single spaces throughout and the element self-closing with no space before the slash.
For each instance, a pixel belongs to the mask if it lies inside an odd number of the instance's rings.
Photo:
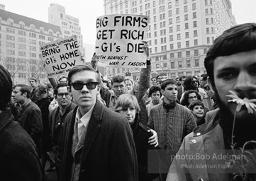
<svg viewBox="0 0 256 181">
<path fill-rule="evenodd" d="M 133 140 L 138 159 L 139 180 L 153 180 L 158 174 L 148 174 L 148 150 L 154 150 L 158 145 L 157 133 L 139 122 L 138 113 L 140 112 L 140 106 L 135 95 L 120 95 L 116 103 L 115 111 L 126 117 L 133 130 Z M 159 168 L 158 165 L 150 166 Z"/>
</svg>

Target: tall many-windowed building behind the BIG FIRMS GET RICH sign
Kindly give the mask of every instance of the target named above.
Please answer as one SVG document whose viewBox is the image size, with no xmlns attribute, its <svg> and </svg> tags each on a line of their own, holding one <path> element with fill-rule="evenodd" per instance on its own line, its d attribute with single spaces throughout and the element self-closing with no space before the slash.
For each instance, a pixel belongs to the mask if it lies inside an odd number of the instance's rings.
<svg viewBox="0 0 256 181">
<path fill-rule="evenodd" d="M 191 76 L 206 73 L 204 58 L 213 40 L 235 24 L 230 0 L 104 0 L 105 14 L 150 16 L 152 72 Z M 112 69 L 123 74 L 126 69 Z M 138 69 L 133 69 L 137 76 Z"/>
</svg>

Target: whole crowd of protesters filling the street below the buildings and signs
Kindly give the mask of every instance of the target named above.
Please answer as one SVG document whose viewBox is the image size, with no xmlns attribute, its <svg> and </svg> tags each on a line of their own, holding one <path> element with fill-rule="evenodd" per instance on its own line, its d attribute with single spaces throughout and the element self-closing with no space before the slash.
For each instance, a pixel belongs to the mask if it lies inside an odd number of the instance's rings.
<svg viewBox="0 0 256 181">
<path fill-rule="evenodd" d="M 0 180 L 44 180 L 48 171 L 60 181 L 255 180 L 195 169 L 212 159 L 174 158 L 256 140 L 255 41 L 254 23 L 230 28 L 208 51 L 207 74 L 173 79 L 152 76 L 148 45 L 136 80 L 104 80 L 94 57 L 55 83 L 13 86 L 0 66 Z"/>
</svg>

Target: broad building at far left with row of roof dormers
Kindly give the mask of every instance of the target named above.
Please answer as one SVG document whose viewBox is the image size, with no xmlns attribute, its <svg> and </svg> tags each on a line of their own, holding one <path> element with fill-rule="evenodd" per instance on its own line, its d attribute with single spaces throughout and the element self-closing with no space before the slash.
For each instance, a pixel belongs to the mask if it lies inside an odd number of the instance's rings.
<svg viewBox="0 0 256 181">
<path fill-rule="evenodd" d="M 48 81 L 40 45 L 60 38 L 60 26 L 0 9 L 0 62 L 10 71 L 13 84 L 28 83 L 31 76 Z"/>
</svg>

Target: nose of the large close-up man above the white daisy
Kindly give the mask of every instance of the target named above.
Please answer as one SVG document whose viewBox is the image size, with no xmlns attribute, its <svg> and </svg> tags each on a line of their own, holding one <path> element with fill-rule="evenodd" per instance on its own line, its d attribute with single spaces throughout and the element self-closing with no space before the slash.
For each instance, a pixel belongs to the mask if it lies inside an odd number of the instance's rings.
<svg viewBox="0 0 256 181">
<path fill-rule="evenodd" d="M 241 91 L 256 91 L 256 81 L 246 71 L 241 71 L 235 81 L 234 90 L 238 93 Z"/>
</svg>

